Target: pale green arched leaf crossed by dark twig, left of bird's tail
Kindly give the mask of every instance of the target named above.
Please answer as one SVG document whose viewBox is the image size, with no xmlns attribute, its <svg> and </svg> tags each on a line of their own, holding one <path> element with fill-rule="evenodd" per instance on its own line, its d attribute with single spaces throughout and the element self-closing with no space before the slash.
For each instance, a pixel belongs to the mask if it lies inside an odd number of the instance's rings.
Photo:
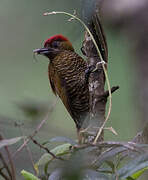
<svg viewBox="0 0 148 180">
<path fill-rule="evenodd" d="M 55 147 L 54 149 L 52 149 L 51 152 L 54 153 L 56 156 L 62 156 L 62 155 L 69 153 L 70 146 L 71 146 L 71 144 L 69 144 L 69 143 L 62 144 L 62 145 L 59 145 L 59 146 Z M 35 165 L 36 166 L 45 165 L 45 164 L 49 163 L 52 159 L 53 159 L 53 157 L 49 153 L 45 153 L 41 156 L 41 158 Z"/>
</svg>

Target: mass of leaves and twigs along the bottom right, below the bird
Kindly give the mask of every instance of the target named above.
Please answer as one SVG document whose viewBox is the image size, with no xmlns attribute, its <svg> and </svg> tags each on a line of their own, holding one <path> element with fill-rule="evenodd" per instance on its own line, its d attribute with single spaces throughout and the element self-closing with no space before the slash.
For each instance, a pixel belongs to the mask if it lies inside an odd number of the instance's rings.
<svg viewBox="0 0 148 180">
<path fill-rule="evenodd" d="M 69 141 L 66 137 L 55 137 L 48 143 L 61 143 L 62 139 Z M 47 180 L 136 180 L 148 169 L 148 145 L 112 141 L 73 145 L 74 141 L 71 142 L 53 148 L 50 152 L 55 157 L 49 153 L 41 156 L 35 164 L 39 177 L 44 174 Z M 43 149 L 47 148 L 47 142 L 43 144 Z M 97 154 L 100 148 L 101 153 Z"/>
</svg>

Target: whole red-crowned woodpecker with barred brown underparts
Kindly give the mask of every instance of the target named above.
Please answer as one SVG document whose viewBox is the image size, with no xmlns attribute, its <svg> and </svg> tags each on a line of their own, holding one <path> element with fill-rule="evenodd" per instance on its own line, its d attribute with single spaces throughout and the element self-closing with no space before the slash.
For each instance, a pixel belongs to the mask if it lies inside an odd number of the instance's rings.
<svg viewBox="0 0 148 180">
<path fill-rule="evenodd" d="M 63 35 L 55 35 L 34 50 L 49 59 L 48 77 L 53 93 L 59 96 L 79 131 L 89 113 L 89 89 L 86 61 Z"/>
</svg>

